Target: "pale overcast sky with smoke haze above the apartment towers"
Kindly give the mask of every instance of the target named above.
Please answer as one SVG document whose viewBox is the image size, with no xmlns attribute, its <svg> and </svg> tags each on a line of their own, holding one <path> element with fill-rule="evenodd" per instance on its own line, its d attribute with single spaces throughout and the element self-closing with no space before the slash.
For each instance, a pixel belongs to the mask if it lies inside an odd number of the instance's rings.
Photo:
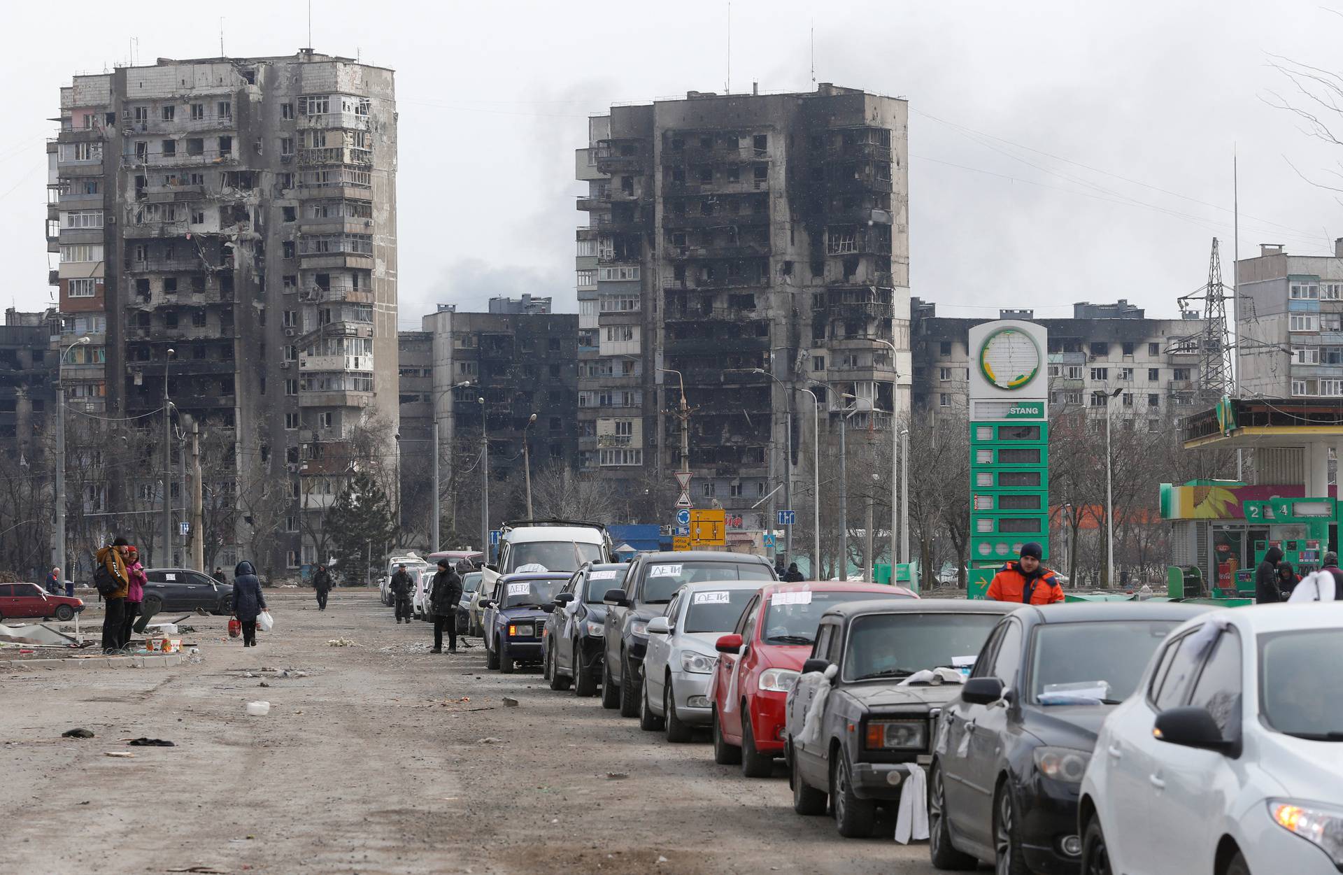
<svg viewBox="0 0 1343 875">
<path fill-rule="evenodd" d="M 396 70 L 402 327 L 438 302 L 553 295 L 575 310 L 573 149 L 611 102 L 721 91 L 728 4 L 313 1 L 320 52 Z M 11 7 L 0 146 L 9 301 L 51 301 L 46 154 L 62 85 L 157 56 L 283 55 L 302 0 Z M 909 99 L 912 293 L 944 315 L 998 306 L 1068 315 L 1128 298 L 1174 315 L 1207 274 L 1230 279 L 1232 154 L 1241 255 L 1326 254 L 1343 236 L 1323 176 L 1343 149 L 1268 105 L 1273 55 L 1343 70 L 1343 16 L 1317 3 L 732 3 L 733 91 L 815 76 Z"/>
</svg>

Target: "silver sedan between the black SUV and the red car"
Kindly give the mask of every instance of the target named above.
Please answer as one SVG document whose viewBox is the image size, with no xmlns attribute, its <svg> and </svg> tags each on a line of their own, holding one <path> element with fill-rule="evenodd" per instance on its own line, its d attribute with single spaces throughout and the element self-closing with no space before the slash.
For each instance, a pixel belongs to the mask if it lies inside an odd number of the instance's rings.
<svg viewBox="0 0 1343 875">
<path fill-rule="evenodd" d="M 681 586 L 661 617 L 649 621 L 639 727 L 665 729 L 667 741 L 689 741 L 692 726 L 712 719 L 709 682 L 713 646 L 737 625 L 743 608 L 767 581 L 706 581 Z"/>
</svg>

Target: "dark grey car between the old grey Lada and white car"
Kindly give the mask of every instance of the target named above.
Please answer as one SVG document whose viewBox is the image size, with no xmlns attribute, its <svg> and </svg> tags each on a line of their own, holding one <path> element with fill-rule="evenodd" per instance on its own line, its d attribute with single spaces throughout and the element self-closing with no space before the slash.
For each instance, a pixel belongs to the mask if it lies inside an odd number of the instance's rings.
<svg viewBox="0 0 1343 875">
<path fill-rule="evenodd" d="M 1077 872 L 1077 800 L 1096 733 L 1166 635 L 1199 605 L 1019 608 L 988 636 L 937 721 L 928 841 L 940 870 Z"/>
</svg>

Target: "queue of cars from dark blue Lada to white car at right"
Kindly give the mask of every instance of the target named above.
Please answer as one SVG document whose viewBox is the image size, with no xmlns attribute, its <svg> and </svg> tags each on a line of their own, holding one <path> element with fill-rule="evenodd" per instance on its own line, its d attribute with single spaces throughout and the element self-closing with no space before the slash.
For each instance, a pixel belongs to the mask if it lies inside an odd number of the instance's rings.
<svg viewBox="0 0 1343 875">
<path fill-rule="evenodd" d="M 498 574 L 492 668 L 783 758 L 841 835 L 925 807 L 940 870 L 1343 871 L 1343 605 L 921 600 L 732 553 Z"/>
</svg>

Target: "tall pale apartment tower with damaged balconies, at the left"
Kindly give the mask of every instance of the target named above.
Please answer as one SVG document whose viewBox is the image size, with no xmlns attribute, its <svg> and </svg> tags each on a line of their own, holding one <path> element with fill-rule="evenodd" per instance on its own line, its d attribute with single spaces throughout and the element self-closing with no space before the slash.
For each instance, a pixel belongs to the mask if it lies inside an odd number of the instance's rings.
<svg viewBox="0 0 1343 875">
<path fill-rule="evenodd" d="M 304 48 L 77 75 L 51 152 L 62 331 L 106 346 L 78 391 L 146 431 L 167 397 L 175 425 L 226 432 L 218 561 L 265 535 L 258 566 L 310 564 L 304 514 L 344 472 L 308 463 L 371 417 L 396 432 L 392 71 Z"/>
</svg>

